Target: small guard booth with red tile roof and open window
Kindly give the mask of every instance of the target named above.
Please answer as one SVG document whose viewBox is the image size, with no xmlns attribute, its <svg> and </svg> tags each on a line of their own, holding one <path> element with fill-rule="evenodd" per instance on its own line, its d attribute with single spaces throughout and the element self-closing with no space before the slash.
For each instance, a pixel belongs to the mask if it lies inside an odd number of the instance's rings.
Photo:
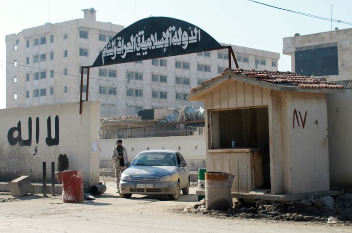
<svg viewBox="0 0 352 233">
<path fill-rule="evenodd" d="M 326 93 L 339 92 L 290 72 L 228 68 L 194 87 L 188 100 L 206 109 L 207 171 L 235 174 L 233 197 L 329 194 Z"/>
</svg>

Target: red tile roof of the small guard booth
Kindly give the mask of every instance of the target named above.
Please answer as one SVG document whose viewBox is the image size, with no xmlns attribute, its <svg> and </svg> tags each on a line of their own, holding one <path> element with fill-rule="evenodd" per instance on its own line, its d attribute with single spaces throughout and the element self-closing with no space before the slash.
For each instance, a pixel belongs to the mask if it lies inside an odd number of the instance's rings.
<svg viewBox="0 0 352 233">
<path fill-rule="evenodd" d="M 288 84 L 292 86 L 299 86 L 305 89 L 320 89 L 320 88 L 334 88 L 342 89 L 342 85 L 336 85 L 334 82 L 321 81 L 316 78 L 311 78 L 308 76 L 302 76 L 296 73 L 280 72 L 280 71 L 259 71 L 259 70 L 243 70 L 243 69 L 229 69 L 225 68 L 220 76 L 214 77 L 211 80 L 203 82 L 201 85 L 192 88 L 191 93 L 203 86 L 209 85 L 222 77 L 223 74 L 242 74 L 247 75 L 248 78 L 257 78 L 259 81 L 272 83 L 272 84 Z"/>
</svg>

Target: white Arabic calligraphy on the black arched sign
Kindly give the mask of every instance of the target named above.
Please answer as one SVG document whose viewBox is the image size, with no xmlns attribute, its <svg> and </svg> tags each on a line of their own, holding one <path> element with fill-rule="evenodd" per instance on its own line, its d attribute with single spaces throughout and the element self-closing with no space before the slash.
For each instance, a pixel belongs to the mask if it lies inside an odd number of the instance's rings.
<svg viewBox="0 0 352 233">
<path fill-rule="evenodd" d="M 164 48 L 165 52 L 166 47 L 172 45 L 181 45 L 183 49 L 186 49 L 189 43 L 196 43 L 200 41 L 200 29 L 195 27 L 192 30 L 192 27 L 189 27 L 190 36 L 187 31 L 182 31 L 181 28 L 178 28 L 176 31 L 175 26 L 170 26 L 166 32 L 162 32 L 162 37 L 160 40 L 157 38 L 157 33 L 151 34 L 147 39 L 144 38 L 144 31 L 139 31 L 136 35 L 131 35 L 130 41 L 125 43 L 124 38 L 117 37 L 111 40 L 102 51 L 102 60 L 104 64 L 105 57 L 111 57 L 112 60 L 115 60 L 116 55 L 120 55 L 121 58 L 126 58 L 128 53 L 137 52 L 136 55 L 140 56 L 141 54 L 147 55 L 148 49 L 155 48 Z M 143 50 L 144 52 L 140 53 L 139 51 Z"/>
</svg>

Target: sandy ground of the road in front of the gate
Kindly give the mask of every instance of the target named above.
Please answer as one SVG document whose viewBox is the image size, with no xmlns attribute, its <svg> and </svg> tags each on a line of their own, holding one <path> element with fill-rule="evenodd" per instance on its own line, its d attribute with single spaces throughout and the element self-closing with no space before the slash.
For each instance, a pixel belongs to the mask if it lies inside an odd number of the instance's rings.
<svg viewBox="0 0 352 233">
<path fill-rule="evenodd" d="M 62 196 L 43 198 L 28 195 L 10 199 L 0 194 L 0 232 L 241 232 L 241 233 L 339 233 L 352 232 L 351 227 L 304 222 L 281 222 L 261 219 L 216 218 L 200 214 L 176 213 L 175 210 L 197 202 L 196 188 L 177 201 L 162 196 L 118 196 L 113 180 L 97 199 L 84 203 L 62 202 Z"/>
</svg>

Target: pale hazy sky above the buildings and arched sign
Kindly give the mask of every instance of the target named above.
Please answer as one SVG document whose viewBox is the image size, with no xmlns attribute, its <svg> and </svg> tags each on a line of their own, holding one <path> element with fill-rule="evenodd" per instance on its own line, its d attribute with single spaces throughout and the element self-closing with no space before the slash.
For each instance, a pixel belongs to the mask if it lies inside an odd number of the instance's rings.
<svg viewBox="0 0 352 233">
<path fill-rule="evenodd" d="M 352 21 L 351 0 L 257 0 L 265 4 L 340 21 Z M 330 31 L 330 21 L 287 12 L 248 0 L 4 0 L 0 14 L 0 108 L 6 107 L 5 36 L 22 29 L 83 18 L 94 7 L 96 20 L 129 26 L 150 16 L 188 21 L 218 42 L 281 54 L 279 70 L 291 70 L 283 38 Z M 332 30 L 352 25 L 332 22 Z M 13 75 L 10 74 L 12 77 Z"/>
</svg>

